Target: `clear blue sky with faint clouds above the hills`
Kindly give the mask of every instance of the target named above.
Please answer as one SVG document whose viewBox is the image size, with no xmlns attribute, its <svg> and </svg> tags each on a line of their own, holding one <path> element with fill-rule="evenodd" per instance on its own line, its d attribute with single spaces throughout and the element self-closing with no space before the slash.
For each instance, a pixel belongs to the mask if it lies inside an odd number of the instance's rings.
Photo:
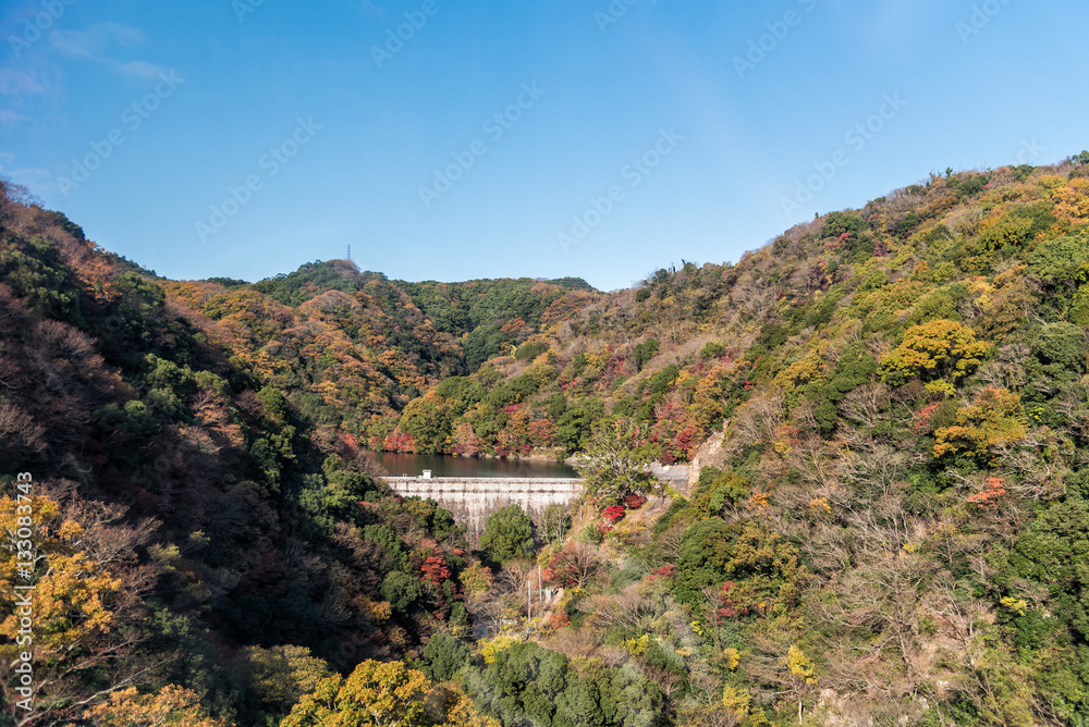
<svg viewBox="0 0 1089 727">
<path fill-rule="evenodd" d="M 1084 0 L 0 0 L 0 174 L 175 279 L 351 245 L 614 289 L 1089 147 L 1087 27 Z"/>
</svg>

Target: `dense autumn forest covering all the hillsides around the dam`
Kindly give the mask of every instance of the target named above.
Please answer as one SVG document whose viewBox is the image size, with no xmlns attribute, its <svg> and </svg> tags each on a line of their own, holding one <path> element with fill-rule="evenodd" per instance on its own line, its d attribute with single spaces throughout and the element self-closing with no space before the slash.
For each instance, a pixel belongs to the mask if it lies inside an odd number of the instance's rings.
<svg viewBox="0 0 1089 727">
<path fill-rule="evenodd" d="M 1087 222 L 1082 152 L 613 293 L 250 284 L 2 182 L 0 722 L 1087 725 Z M 368 449 L 586 494 L 470 542 Z"/>
</svg>

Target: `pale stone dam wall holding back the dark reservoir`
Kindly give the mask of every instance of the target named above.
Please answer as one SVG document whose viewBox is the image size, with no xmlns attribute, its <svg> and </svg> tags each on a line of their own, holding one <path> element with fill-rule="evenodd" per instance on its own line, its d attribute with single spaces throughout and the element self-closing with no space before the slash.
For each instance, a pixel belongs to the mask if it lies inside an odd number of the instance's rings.
<svg viewBox="0 0 1089 727">
<path fill-rule="evenodd" d="M 386 481 L 403 497 L 431 497 L 465 525 L 470 538 L 484 534 L 488 516 L 517 503 L 534 522 L 549 505 L 566 505 L 583 494 L 583 480 L 500 477 L 388 477 Z"/>
</svg>

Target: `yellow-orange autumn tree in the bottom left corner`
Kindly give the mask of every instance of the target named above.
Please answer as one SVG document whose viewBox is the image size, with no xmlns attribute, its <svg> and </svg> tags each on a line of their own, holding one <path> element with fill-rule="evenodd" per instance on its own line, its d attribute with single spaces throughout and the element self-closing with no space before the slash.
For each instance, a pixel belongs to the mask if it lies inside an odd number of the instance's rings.
<svg viewBox="0 0 1089 727">
<path fill-rule="evenodd" d="M 35 664 L 35 704 L 56 717 L 79 710 L 112 691 L 139 683 L 163 661 L 140 652 L 147 639 L 142 599 L 152 576 L 135 565 L 150 522 L 119 523 L 120 507 L 84 501 L 63 508 L 41 494 L 0 497 L 0 683 L 4 712 L 13 724 L 30 715 L 15 708 L 13 669 L 29 649 Z M 17 490 L 17 488 L 16 488 Z M 30 542 L 20 535 L 33 522 Z M 28 564 L 23 565 L 23 564 Z M 33 645 L 21 645 L 20 592 L 34 584 Z M 48 625 L 48 628 L 44 628 Z M 24 640 L 25 642 L 25 640 Z"/>
</svg>

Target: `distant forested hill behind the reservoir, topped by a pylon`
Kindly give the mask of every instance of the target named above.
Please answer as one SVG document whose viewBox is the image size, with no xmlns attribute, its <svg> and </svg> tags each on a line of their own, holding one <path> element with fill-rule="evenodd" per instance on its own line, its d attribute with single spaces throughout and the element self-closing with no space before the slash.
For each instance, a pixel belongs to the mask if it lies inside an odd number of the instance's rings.
<svg viewBox="0 0 1089 727">
<path fill-rule="evenodd" d="M 556 309 L 600 295 L 578 279 L 405 283 L 345 260 L 254 284 L 161 284 L 307 420 L 353 436 L 392 432 L 411 398 L 509 352 Z"/>
</svg>

